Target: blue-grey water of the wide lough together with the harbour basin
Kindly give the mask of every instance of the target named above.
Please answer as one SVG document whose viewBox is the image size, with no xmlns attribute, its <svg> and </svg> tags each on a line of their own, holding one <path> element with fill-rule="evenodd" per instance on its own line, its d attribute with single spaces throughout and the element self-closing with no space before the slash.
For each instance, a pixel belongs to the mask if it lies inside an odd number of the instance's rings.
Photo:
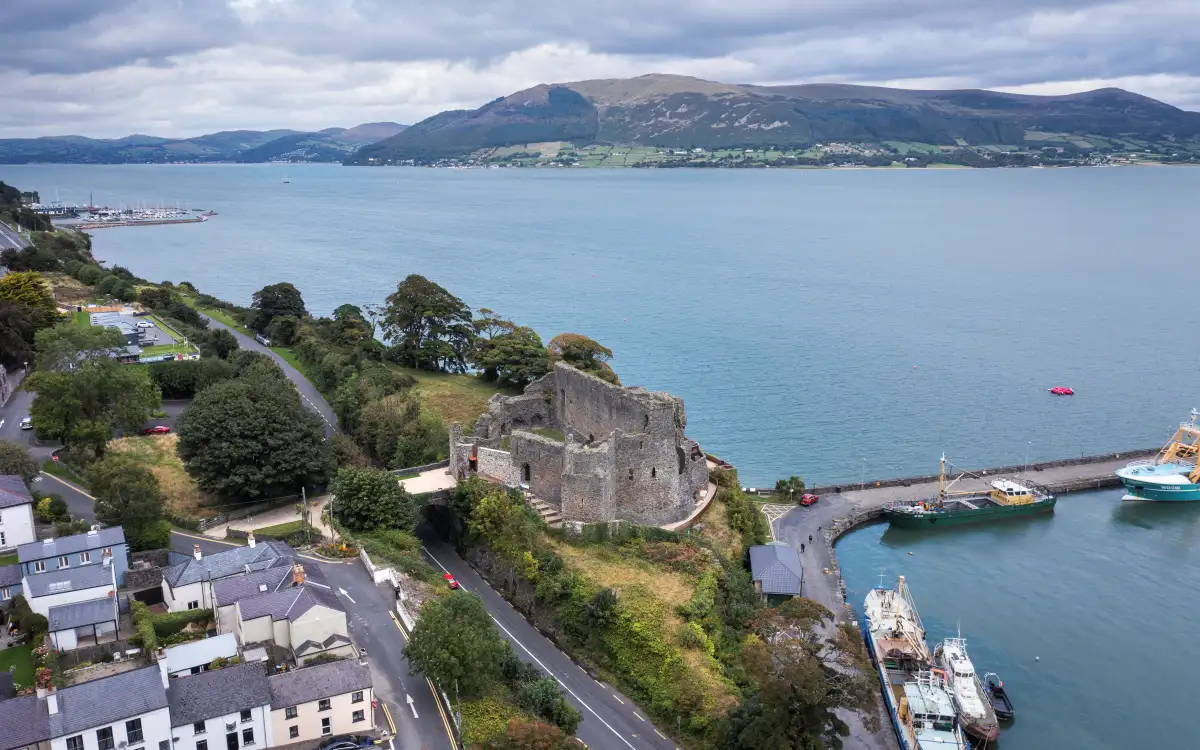
<svg viewBox="0 0 1200 750">
<path fill-rule="evenodd" d="M 288 173 L 290 184 L 283 185 Z M 43 198 L 215 209 L 96 254 L 240 304 L 310 310 L 408 274 L 587 334 L 686 400 L 746 484 L 929 473 L 1157 445 L 1200 406 L 1200 169 L 601 172 L 2 167 Z M 1052 385 L 1076 396 L 1055 398 Z M 1073 496 L 1052 518 L 856 532 L 854 600 L 905 572 L 1013 688 L 1006 746 L 1195 748 L 1195 508 Z M 913 556 L 907 552 L 912 551 Z M 1034 656 L 1042 656 L 1034 662 Z"/>
</svg>

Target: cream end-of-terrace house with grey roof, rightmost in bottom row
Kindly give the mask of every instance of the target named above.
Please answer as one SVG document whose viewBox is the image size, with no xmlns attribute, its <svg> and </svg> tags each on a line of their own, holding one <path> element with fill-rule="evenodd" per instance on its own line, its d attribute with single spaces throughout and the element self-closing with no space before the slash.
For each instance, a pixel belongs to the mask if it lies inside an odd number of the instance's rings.
<svg viewBox="0 0 1200 750">
<path fill-rule="evenodd" d="M 271 690 L 271 734 L 278 745 L 374 728 L 371 671 L 350 659 L 266 678 Z"/>
</svg>

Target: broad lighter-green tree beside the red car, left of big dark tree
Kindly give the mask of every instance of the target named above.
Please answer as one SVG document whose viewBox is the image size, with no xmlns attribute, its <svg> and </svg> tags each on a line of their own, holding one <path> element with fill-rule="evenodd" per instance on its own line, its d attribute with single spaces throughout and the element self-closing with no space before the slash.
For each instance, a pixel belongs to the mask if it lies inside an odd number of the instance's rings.
<svg viewBox="0 0 1200 750">
<path fill-rule="evenodd" d="M 114 430 L 134 432 L 158 410 L 162 396 L 145 370 L 112 359 L 84 361 L 68 372 L 37 371 L 30 415 L 40 432 L 67 448 L 102 456 Z"/>
</svg>

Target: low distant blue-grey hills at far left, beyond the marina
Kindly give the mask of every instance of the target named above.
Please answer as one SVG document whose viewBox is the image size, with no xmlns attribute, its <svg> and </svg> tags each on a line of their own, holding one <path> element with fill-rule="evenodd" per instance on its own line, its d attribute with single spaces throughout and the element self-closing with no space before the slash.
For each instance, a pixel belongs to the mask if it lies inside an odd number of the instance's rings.
<svg viewBox="0 0 1200 750">
<path fill-rule="evenodd" d="M 83 136 L 0 139 L 0 164 L 122 164 L 168 162 L 341 162 L 364 143 L 395 136 L 396 122 L 367 122 L 319 132 L 294 130 L 221 131 L 194 138 L 126 136 L 97 139 Z"/>
</svg>

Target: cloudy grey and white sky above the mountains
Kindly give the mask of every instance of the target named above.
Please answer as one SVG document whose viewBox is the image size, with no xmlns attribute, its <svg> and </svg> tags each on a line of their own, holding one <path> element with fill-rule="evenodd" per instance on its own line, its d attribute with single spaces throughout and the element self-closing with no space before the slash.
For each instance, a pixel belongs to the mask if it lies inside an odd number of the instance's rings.
<svg viewBox="0 0 1200 750">
<path fill-rule="evenodd" d="M 1200 110 L 1200 0 L 0 0 L 0 137 L 414 122 L 650 72 Z"/>
</svg>

